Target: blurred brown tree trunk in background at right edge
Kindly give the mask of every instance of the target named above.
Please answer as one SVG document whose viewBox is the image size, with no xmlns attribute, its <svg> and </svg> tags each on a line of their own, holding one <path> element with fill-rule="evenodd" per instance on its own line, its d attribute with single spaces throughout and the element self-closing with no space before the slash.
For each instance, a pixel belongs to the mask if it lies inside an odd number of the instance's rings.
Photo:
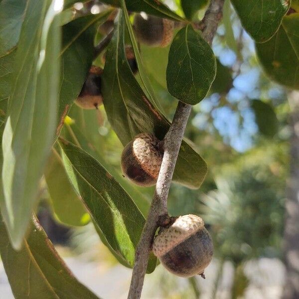
<svg viewBox="0 0 299 299">
<path fill-rule="evenodd" d="M 286 285 L 283 299 L 299 298 L 299 92 L 289 93 L 291 106 L 290 177 L 287 184 L 284 258 Z"/>
</svg>

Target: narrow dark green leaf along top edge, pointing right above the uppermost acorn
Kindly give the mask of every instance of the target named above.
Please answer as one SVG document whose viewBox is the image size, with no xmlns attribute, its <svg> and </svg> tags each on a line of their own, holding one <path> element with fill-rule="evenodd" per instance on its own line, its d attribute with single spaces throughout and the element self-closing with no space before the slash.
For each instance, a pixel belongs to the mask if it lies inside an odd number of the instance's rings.
<svg viewBox="0 0 299 299">
<path fill-rule="evenodd" d="M 122 0 L 102 0 L 102 2 L 110 4 L 112 6 L 122 7 Z M 126 0 L 126 6 L 129 11 L 144 11 L 155 16 L 169 18 L 177 21 L 184 21 L 184 18 L 171 11 L 159 0 Z"/>
</svg>

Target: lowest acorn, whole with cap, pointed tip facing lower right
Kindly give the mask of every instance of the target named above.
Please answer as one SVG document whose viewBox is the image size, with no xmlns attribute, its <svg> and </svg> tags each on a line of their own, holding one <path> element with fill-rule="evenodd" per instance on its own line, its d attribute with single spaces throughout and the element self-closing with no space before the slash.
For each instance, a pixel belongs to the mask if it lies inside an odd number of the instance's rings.
<svg viewBox="0 0 299 299">
<path fill-rule="evenodd" d="M 184 215 L 169 227 L 160 228 L 152 251 L 172 274 L 205 278 L 203 272 L 212 260 L 213 243 L 200 217 Z"/>
</svg>

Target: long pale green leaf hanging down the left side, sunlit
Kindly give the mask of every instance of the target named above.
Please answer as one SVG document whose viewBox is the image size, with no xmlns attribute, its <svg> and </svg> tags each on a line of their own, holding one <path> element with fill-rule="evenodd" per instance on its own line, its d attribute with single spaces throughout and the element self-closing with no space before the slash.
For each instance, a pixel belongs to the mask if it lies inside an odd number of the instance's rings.
<svg viewBox="0 0 299 299">
<path fill-rule="evenodd" d="M 29 1 L 2 138 L 3 220 L 20 249 L 56 131 L 60 30 L 55 1 Z"/>
</svg>

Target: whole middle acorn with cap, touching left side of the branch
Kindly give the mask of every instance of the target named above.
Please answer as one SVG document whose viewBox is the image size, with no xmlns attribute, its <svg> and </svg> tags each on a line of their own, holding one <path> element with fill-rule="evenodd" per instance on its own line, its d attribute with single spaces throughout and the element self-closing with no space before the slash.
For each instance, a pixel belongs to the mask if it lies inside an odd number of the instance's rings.
<svg viewBox="0 0 299 299">
<path fill-rule="evenodd" d="M 159 142 L 155 136 L 142 133 L 127 144 L 121 157 L 125 177 L 144 187 L 156 183 L 163 158 Z"/>
</svg>

